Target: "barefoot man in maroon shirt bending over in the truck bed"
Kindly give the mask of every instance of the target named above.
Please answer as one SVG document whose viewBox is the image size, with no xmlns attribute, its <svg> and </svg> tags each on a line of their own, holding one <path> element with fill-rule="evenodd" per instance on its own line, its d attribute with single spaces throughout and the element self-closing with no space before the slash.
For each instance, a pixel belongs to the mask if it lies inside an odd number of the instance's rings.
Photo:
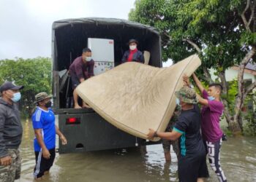
<svg viewBox="0 0 256 182">
<path fill-rule="evenodd" d="M 83 54 L 75 58 L 69 66 L 69 74 L 72 80 L 72 89 L 74 90 L 75 108 L 81 108 L 78 104 L 78 93 L 75 88 L 78 87 L 78 84 L 94 76 L 94 60 L 91 59 L 91 50 L 89 48 L 84 48 Z M 89 108 L 89 106 L 83 102 L 83 108 Z"/>
</svg>

